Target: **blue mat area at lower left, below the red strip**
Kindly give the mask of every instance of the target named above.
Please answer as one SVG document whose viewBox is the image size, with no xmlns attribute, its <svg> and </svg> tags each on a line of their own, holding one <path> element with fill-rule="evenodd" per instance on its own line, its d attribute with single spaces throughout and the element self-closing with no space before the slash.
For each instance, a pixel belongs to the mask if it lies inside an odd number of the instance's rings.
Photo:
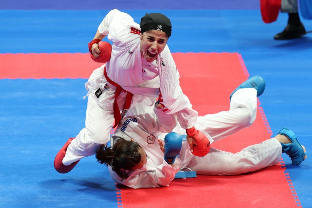
<svg viewBox="0 0 312 208">
<path fill-rule="evenodd" d="M 53 166 L 84 127 L 85 81 L 0 81 L 10 89 L 1 90 L 0 207 L 117 207 L 115 182 L 94 156 L 67 174 Z"/>
</svg>

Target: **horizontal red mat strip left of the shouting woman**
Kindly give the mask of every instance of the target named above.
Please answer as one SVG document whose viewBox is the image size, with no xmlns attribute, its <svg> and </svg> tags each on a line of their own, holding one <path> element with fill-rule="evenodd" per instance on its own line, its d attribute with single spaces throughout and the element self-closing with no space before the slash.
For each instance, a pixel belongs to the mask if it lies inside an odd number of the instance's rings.
<svg viewBox="0 0 312 208">
<path fill-rule="evenodd" d="M 86 53 L 0 54 L 0 79 L 89 78 L 101 64 Z"/>
</svg>

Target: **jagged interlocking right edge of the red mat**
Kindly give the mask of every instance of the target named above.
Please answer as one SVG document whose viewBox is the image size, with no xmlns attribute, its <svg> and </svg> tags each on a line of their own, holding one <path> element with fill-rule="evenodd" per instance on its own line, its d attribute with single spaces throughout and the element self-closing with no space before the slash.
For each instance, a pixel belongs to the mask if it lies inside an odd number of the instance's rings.
<svg viewBox="0 0 312 208">
<path fill-rule="evenodd" d="M 238 60 L 239 60 L 240 63 L 241 63 L 241 67 L 243 68 L 243 71 L 244 71 L 244 73 L 245 73 L 245 75 L 246 75 L 246 79 L 248 79 L 250 75 L 249 75 L 249 72 L 248 72 L 247 67 L 246 67 L 246 65 L 245 65 L 245 62 L 244 62 L 244 60 L 243 60 L 243 57 L 242 57 L 241 54 L 239 54 L 239 53 L 237 53 L 237 56 L 238 56 Z M 267 120 L 267 118 L 266 118 L 266 114 L 265 114 L 265 112 L 264 112 L 264 110 L 263 110 L 263 107 L 260 106 L 260 105 L 261 105 L 260 100 L 259 100 L 259 98 L 257 98 L 257 107 L 258 107 L 259 112 L 260 112 L 260 114 L 261 114 L 262 121 L 263 121 L 264 125 L 266 126 L 266 131 L 269 133 L 269 135 L 270 135 L 270 137 L 271 137 L 271 136 L 273 135 L 273 132 L 272 132 L 271 127 L 270 127 L 270 125 L 269 125 L 269 122 L 268 122 L 268 120 Z M 301 208 L 302 208 L 302 205 L 301 205 L 301 203 L 300 203 L 299 196 L 298 196 L 297 193 L 296 193 L 294 184 L 291 182 L 289 173 L 286 172 L 286 169 L 287 169 L 287 168 L 286 168 L 285 163 L 284 163 L 284 161 L 283 161 L 283 157 L 280 158 L 279 165 L 280 165 L 280 167 L 281 167 L 282 169 L 284 169 L 284 176 L 285 176 L 286 181 L 288 182 L 288 185 L 289 185 L 291 194 L 293 195 L 293 198 L 294 198 L 293 200 L 295 201 L 297 207 L 301 207 Z"/>
</svg>

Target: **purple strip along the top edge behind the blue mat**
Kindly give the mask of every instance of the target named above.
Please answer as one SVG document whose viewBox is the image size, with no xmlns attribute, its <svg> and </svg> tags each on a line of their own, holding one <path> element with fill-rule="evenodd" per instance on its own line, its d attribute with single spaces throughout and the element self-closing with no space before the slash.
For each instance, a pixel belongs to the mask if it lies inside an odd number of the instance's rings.
<svg viewBox="0 0 312 208">
<path fill-rule="evenodd" d="M 259 9 L 259 0 L 1 0 L 0 9 L 110 10 L 118 9 Z"/>
</svg>

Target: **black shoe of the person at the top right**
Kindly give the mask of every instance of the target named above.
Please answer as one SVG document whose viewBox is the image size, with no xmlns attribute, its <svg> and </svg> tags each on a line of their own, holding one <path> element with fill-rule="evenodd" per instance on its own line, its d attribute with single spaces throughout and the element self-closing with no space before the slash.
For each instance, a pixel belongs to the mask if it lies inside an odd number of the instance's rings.
<svg viewBox="0 0 312 208">
<path fill-rule="evenodd" d="M 298 38 L 305 34 L 307 34 L 307 32 L 305 31 L 305 27 L 303 26 L 303 24 L 301 24 L 301 26 L 293 26 L 293 25 L 288 24 L 285 27 L 284 31 L 274 36 L 274 39 L 275 40 L 289 40 L 293 38 Z"/>
</svg>

